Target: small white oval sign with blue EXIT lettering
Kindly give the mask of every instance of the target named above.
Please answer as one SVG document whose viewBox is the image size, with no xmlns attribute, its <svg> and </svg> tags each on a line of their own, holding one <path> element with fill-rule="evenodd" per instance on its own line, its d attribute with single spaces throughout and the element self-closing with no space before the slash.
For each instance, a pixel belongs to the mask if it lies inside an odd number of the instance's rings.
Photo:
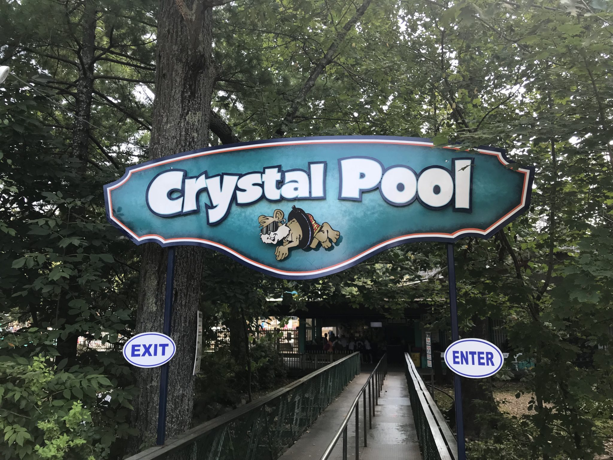
<svg viewBox="0 0 613 460">
<path fill-rule="evenodd" d="M 123 346 L 123 357 L 138 367 L 158 367 L 175 356 L 177 345 L 168 335 L 142 332 L 134 335 Z"/>
</svg>

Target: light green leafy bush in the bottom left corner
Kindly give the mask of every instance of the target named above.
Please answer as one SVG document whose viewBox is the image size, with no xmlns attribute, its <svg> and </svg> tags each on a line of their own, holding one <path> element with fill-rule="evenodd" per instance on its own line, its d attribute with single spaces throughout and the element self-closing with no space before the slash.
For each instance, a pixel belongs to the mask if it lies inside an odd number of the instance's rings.
<svg viewBox="0 0 613 460">
<path fill-rule="evenodd" d="M 0 356 L 0 458 L 104 459 L 130 431 L 102 416 L 112 399 L 131 408 L 129 394 L 92 368 L 58 367 L 44 356 Z"/>
</svg>

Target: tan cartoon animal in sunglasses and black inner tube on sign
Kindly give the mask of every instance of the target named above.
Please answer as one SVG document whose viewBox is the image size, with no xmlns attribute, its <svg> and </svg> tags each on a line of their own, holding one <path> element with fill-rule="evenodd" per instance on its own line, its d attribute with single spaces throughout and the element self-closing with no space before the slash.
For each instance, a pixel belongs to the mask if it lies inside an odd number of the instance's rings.
<svg viewBox="0 0 613 460">
<path fill-rule="evenodd" d="M 332 243 L 336 243 L 341 236 L 329 223 L 319 225 L 312 215 L 295 206 L 292 206 L 287 216 L 287 223 L 283 217 L 283 211 L 275 209 L 272 216 L 257 218 L 262 227 L 260 237 L 264 243 L 283 243 L 276 247 L 277 260 L 286 258 L 290 248 L 314 249 L 318 243 L 321 243 L 323 248 L 332 247 Z"/>
</svg>

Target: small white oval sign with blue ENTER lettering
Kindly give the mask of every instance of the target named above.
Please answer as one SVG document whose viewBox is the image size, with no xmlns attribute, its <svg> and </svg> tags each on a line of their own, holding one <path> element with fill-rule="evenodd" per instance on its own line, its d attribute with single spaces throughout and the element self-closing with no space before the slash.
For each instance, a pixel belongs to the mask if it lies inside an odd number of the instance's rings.
<svg viewBox="0 0 613 460">
<path fill-rule="evenodd" d="M 500 370 L 503 362 L 500 348 L 487 340 L 457 340 L 445 350 L 445 364 L 462 377 L 490 377 Z"/>
</svg>

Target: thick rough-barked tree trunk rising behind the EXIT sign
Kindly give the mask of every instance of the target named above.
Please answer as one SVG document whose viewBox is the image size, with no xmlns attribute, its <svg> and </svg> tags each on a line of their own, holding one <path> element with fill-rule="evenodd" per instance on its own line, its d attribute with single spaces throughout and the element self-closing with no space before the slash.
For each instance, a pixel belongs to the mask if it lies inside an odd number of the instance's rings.
<svg viewBox="0 0 613 460">
<path fill-rule="evenodd" d="M 211 9 L 202 0 L 161 0 L 158 15 L 156 98 L 151 132 L 151 158 L 206 146 L 211 93 Z M 143 248 L 136 331 L 162 331 L 167 249 L 154 243 Z M 196 347 L 196 312 L 204 249 L 182 246 L 175 256 L 172 338 L 177 355 L 169 366 L 166 436 L 189 429 L 194 401 L 192 367 Z M 158 424 L 160 368 L 139 369 L 134 426 L 139 430 L 132 451 L 153 445 Z"/>
</svg>

